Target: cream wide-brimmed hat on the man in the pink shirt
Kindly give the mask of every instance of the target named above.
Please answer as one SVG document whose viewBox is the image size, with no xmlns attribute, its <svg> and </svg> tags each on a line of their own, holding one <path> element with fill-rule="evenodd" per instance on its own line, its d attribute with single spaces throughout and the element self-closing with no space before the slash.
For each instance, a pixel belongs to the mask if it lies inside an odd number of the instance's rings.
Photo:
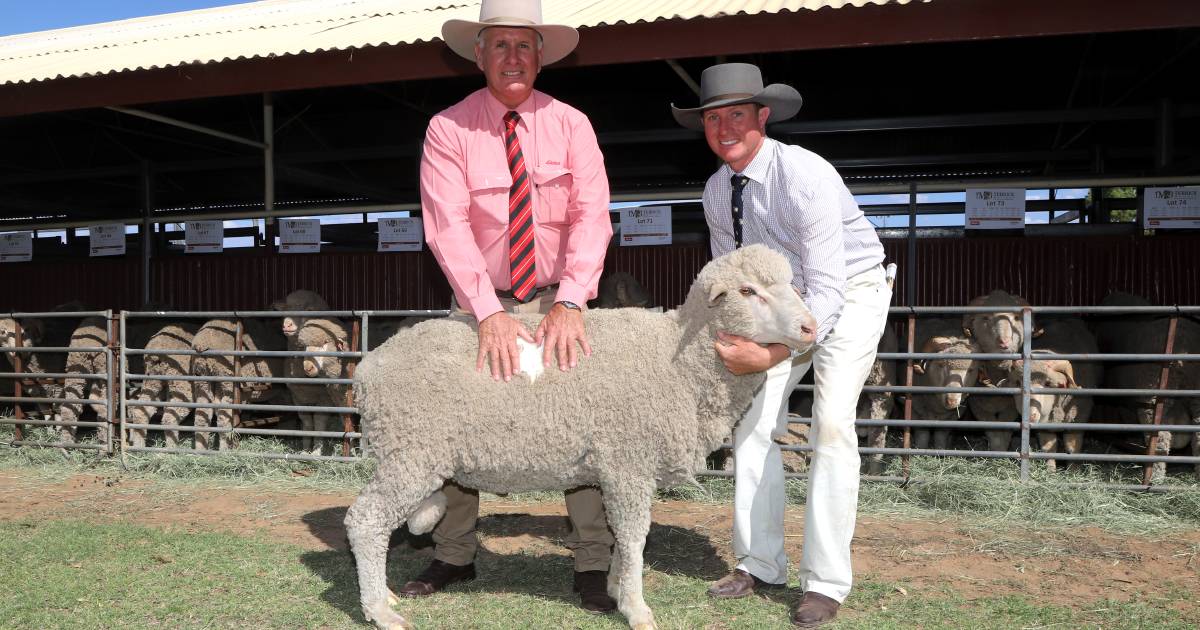
<svg viewBox="0 0 1200 630">
<path fill-rule="evenodd" d="M 479 22 L 448 19 L 442 38 L 451 50 L 475 60 L 475 37 L 490 26 L 533 29 L 541 35 L 541 62 L 548 66 L 571 54 L 580 43 L 580 31 L 562 24 L 541 23 L 541 0 L 482 0 Z"/>
</svg>

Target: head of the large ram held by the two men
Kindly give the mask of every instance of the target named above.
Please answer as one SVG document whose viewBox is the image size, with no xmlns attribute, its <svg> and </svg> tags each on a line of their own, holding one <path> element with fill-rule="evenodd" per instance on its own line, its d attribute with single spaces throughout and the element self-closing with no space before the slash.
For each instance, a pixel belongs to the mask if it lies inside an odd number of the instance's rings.
<svg viewBox="0 0 1200 630">
<path fill-rule="evenodd" d="M 708 263 L 691 293 L 689 301 L 702 299 L 716 311 L 713 320 L 720 330 L 802 353 L 815 342 L 816 319 L 792 286 L 791 265 L 764 245 L 743 247 Z"/>
</svg>

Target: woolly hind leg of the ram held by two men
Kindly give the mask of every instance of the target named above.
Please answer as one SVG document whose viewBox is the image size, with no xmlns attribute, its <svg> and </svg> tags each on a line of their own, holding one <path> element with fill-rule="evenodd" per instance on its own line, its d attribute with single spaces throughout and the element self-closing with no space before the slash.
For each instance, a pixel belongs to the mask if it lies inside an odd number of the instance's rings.
<svg viewBox="0 0 1200 630">
<path fill-rule="evenodd" d="M 346 536 L 358 565 L 362 614 L 384 630 L 413 628 L 391 608 L 400 599 L 388 588 L 388 539 L 443 484 L 437 476 L 413 479 L 408 470 L 379 468 L 346 512 Z"/>
</svg>

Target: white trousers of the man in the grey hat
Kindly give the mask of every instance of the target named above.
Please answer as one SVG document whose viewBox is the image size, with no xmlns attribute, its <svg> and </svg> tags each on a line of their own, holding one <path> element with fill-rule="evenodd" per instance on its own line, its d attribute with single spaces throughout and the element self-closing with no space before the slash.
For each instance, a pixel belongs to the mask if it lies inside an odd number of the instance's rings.
<svg viewBox="0 0 1200 630">
<path fill-rule="evenodd" d="M 816 383 L 809 444 L 808 505 L 800 588 L 844 601 L 850 594 L 850 541 L 858 511 L 858 395 L 887 324 L 892 289 L 876 266 L 846 281 L 846 302 L 812 353 L 767 371 L 767 382 L 733 437 L 733 553 L 738 569 L 787 582 L 784 551 L 784 462 L 772 434 L 787 431 L 787 396 L 810 365 Z"/>
</svg>

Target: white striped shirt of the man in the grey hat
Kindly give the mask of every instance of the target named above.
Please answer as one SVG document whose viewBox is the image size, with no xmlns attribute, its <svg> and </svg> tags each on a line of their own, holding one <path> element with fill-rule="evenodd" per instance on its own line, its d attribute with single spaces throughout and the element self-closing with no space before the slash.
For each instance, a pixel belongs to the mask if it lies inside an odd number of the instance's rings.
<svg viewBox="0 0 1200 630">
<path fill-rule="evenodd" d="M 841 314 L 846 280 L 883 262 L 883 246 L 841 175 L 821 156 L 764 138 L 740 173 L 742 245 L 761 242 L 787 257 L 792 282 L 817 320 L 817 342 Z M 733 251 L 728 164 L 704 185 L 704 220 L 713 257 Z"/>
</svg>

